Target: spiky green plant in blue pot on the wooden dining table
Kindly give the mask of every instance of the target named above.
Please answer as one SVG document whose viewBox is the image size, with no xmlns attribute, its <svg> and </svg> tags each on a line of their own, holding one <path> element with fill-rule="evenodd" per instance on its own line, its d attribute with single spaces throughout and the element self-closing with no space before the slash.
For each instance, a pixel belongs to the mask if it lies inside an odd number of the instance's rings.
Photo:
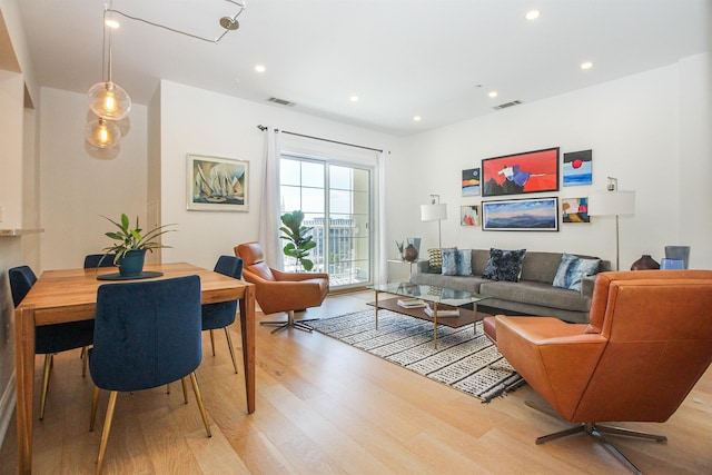
<svg viewBox="0 0 712 475">
<path fill-rule="evenodd" d="M 170 247 L 161 244 L 159 238 L 166 232 L 174 230 L 166 229 L 166 227 L 172 225 L 158 226 L 144 232 L 139 227 L 138 216 L 136 217 L 136 226 L 134 228 L 129 227 L 129 217 L 125 214 L 121 214 L 120 222 L 106 216 L 103 216 L 103 218 L 111 221 L 118 228 L 117 231 L 106 232 L 106 236 L 116 243 L 103 248 L 103 250 L 107 255 L 116 254 L 113 264 L 119 267 L 119 274 L 122 277 L 138 276 L 144 271 L 147 250 L 152 253 L 154 249 Z M 105 257 L 107 256 L 105 255 Z"/>
</svg>

